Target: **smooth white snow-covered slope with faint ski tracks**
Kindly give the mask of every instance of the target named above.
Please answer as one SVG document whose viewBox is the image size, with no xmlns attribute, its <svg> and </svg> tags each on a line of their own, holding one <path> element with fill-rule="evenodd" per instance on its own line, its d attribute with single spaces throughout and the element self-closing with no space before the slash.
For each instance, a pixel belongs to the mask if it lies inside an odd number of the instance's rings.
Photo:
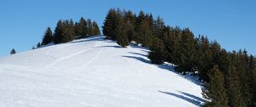
<svg viewBox="0 0 256 107">
<path fill-rule="evenodd" d="M 0 58 L 1 107 L 194 107 L 201 86 L 102 36 Z"/>
</svg>

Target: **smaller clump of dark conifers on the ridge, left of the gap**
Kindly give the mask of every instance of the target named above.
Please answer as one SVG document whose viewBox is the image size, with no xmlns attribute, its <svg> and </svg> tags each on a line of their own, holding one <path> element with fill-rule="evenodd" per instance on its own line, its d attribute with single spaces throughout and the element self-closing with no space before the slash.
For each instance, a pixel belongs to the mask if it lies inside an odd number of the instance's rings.
<svg viewBox="0 0 256 107">
<path fill-rule="evenodd" d="M 70 42 L 74 39 L 100 35 L 101 31 L 96 21 L 90 19 L 85 20 L 83 17 L 79 22 L 70 20 L 59 20 L 56 24 L 54 33 L 48 27 L 44 33 L 42 42 L 38 42 L 37 47 L 47 45 L 50 42 L 55 44 L 62 42 Z"/>
</svg>

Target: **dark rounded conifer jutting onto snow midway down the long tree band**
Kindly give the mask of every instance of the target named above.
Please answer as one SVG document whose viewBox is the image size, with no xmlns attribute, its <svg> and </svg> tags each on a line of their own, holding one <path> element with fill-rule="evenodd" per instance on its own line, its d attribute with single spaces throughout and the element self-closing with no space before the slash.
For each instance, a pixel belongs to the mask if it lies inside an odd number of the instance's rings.
<svg viewBox="0 0 256 107">
<path fill-rule="evenodd" d="M 157 37 L 153 39 L 148 59 L 151 60 L 152 64 L 156 65 L 163 64 L 166 59 L 164 42 Z"/>
</svg>

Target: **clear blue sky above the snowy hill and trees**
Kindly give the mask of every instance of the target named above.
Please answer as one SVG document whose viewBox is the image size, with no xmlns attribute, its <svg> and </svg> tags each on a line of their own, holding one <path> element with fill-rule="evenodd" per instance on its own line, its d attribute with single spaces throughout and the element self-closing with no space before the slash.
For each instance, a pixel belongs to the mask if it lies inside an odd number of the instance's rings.
<svg viewBox="0 0 256 107">
<path fill-rule="evenodd" d="M 256 54 L 255 0 L 1 0 L 0 57 L 30 50 L 57 20 L 90 18 L 102 26 L 109 8 L 160 15 L 166 25 L 189 27 L 227 50 Z"/>
</svg>

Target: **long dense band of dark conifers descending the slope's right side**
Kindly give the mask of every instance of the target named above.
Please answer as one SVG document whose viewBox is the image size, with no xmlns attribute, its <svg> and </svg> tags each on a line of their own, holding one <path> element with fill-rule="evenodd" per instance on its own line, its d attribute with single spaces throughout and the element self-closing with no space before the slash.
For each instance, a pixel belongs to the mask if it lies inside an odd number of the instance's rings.
<svg viewBox="0 0 256 107">
<path fill-rule="evenodd" d="M 103 34 L 125 48 L 130 42 L 148 47 L 153 64 L 172 63 L 177 71 L 191 72 L 204 83 L 203 106 L 256 106 L 256 59 L 246 50 L 228 52 L 205 36 L 195 37 L 189 28 L 165 25 L 164 20 L 141 11 L 111 8 Z M 197 73 L 198 72 L 198 73 Z"/>
</svg>

